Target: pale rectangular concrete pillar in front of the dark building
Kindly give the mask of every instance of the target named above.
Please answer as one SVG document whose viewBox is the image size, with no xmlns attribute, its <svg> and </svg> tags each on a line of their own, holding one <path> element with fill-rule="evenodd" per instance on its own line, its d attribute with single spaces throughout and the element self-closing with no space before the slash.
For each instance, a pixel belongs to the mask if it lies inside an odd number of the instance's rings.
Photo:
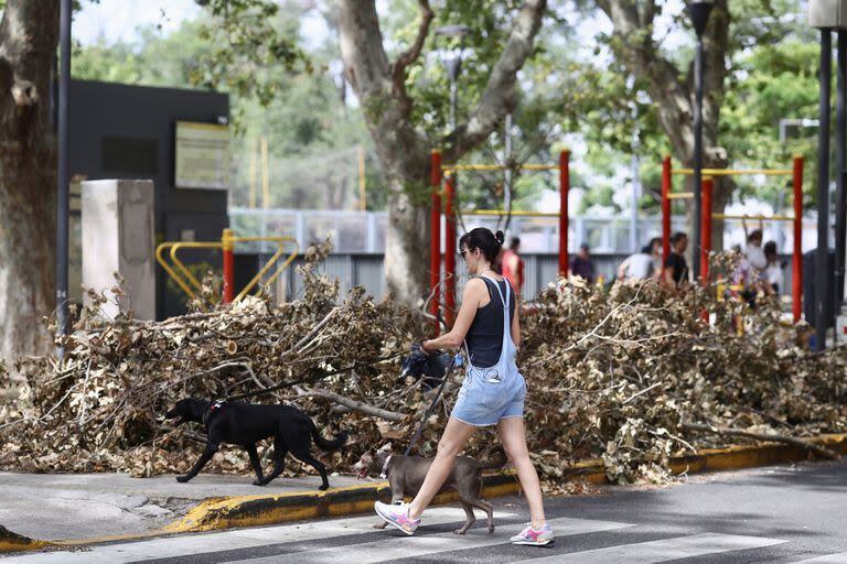
<svg viewBox="0 0 847 564">
<path fill-rule="evenodd" d="M 107 317 L 131 308 L 139 319 L 156 318 L 156 239 L 152 181 L 83 182 L 83 286 L 105 292 L 126 280 L 126 296 L 105 304 Z"/>
</svg>

